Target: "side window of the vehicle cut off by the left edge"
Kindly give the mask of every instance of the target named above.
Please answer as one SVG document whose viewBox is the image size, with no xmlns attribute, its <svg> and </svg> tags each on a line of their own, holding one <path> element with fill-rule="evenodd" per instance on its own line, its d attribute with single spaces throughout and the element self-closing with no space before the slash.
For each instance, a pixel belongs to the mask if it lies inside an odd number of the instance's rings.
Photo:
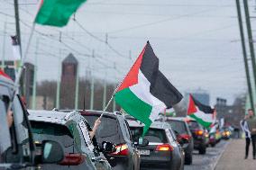
<svg viewBox="0 0 256 170">
<path fill-rule="evenodd" d="M 7 148 L 11 147 L 11 138 L 6 121 L 6 105 L 2 100 L 0 100 L 0 117 L 0 154 L 3 154 Z"/>
</svg>

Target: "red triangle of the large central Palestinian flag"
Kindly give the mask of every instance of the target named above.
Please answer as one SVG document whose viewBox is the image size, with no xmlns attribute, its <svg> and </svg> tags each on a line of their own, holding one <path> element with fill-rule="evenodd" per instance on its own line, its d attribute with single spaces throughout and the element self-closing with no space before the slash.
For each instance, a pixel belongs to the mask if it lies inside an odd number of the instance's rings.
<svg viewBox="0 0 256 170">
<path fill-rule="evenodd" d="M 124 77 L 122 84 L 119 86 L 116 92 L 119 92 L 129 86 L 138 84 L 138 74 L 139 74 L 140 67 L 142 65 L 142 58 L 147 45 L 142 50 L 142 53 L 140 54 L 140 56 L 136 59 L 129 73 Z"/>
</svg>

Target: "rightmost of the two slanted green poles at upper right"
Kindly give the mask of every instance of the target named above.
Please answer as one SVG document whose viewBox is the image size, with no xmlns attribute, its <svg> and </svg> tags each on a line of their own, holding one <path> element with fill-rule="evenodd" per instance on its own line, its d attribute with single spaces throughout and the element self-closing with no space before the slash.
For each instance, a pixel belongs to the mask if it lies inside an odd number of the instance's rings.
<svg viewBox="0 0 256 170">
<path fill-rule="evenodd" d="M 250 13 L 249 13 L 247 1 L 248 0 L 243 0 L 243 6 L 244 6 L 247 32 L 248 32 L 249 48 L 250 48 L 250 53 L 251 53 L 252 73 L 253 73 L 253 78 L 254 78 L 254 84 L 256 85 L 256 63 L 255 63 L 255 54 L 254 54 L 254 47 L 253 47 L 253 38 L 252 38 L 252 33 L 251 33 Z"/>
</svg>

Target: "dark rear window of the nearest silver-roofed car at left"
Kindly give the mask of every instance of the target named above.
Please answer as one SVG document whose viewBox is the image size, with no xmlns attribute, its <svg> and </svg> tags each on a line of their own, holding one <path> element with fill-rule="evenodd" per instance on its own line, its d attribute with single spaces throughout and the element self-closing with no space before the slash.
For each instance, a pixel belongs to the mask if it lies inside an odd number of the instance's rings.
<svg viewBox="0 0 256 170">
<path fill-rule="evenodd" d="M 73 144 L 73 136 L 64 125 L 42 121 L 31 121 L 31 125 L 33 138 L 36 141 L 45 139 L 55 140 L 61 143 L 65 148 Z"/>
</svg>

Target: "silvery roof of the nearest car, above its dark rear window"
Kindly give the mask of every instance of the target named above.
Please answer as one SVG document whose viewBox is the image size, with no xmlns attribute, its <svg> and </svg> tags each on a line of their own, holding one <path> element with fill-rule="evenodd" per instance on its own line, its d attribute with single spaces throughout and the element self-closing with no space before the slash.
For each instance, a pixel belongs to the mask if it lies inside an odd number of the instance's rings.
<svg viewBox="0 0 256 170">
<path fill-rule="evenodd" d="M 59 112 L 45 110 L 28 110 L 30 121 L 45 121 L 57 124 L 65 124 L 75 115 L 80 115 L 79 112 Z"/>
</svg>

